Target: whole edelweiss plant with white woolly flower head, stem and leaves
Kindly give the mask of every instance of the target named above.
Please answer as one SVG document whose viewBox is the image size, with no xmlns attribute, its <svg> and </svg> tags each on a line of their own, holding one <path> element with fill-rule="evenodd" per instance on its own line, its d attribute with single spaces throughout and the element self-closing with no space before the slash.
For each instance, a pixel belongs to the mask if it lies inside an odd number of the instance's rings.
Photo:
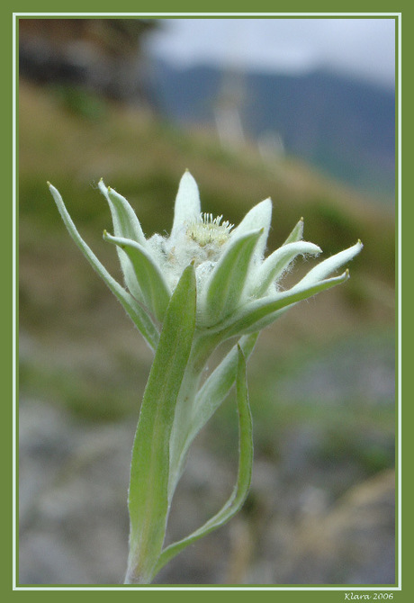
<svg viewBox="0 0 414 603">
<path fill-rule="evenodd" d="M 320 262 L 284 291 L 279 282 L 295 257 L 317 256 L 320 247 L 302 240 L 300 220 L 284 245 L 265 258 L 270 199 L 248 211 L 235 228 L 222 216 L 201 212 L 197 184 L 185 172 L 171 235 L 147 239 L 129 202 L 101 181 L 99 188 L 113 221 L 113 234 L 105 231 L 103 238 L 117 247 L 122 286 L 81 238 L 56 188 L 49 187 L 76 245 L 156 350 L 139 410 L 129 489 L 125 583 L 145 584 L 185 546 L 223 525 L 241 508 L 253 460 L 246 360 L 258 332 L 294 303 L 343 283 L 347 271 L 330 275 L 355 257 L 362 243 Z M 233 337 L 237 344 L 206 376 L 212 351 Z M 236 485 L 222 509 L 202 527 L 163 548 L 171 500 L 189 447 L 233 384 L 239 422 Z"/>
</svg>

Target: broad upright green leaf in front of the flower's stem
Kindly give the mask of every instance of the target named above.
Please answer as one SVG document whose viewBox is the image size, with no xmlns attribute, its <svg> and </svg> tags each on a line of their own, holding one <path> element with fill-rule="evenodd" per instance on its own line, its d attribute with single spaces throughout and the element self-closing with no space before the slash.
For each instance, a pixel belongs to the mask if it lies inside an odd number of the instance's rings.
<svg viewBox="0 0 414 603">
<path fill-rule="evenodd" d="M 188 266 L 166 310 L 132 450 L 129 581 L 149 581 L 161 553 L 168 513 L 169 440 L 194 327 L 195 276 Z"/>
</svg>

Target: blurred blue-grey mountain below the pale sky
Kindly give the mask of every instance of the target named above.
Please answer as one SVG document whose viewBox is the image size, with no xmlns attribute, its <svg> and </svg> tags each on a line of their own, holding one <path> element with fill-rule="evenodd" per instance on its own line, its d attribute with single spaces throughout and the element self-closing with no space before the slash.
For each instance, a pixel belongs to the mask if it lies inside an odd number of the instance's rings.
<svg viewBox="0 0 414 603">
<path fill-rule="evenodd" d="M 167 119 L 217 126 L 220 109 L 229 127 L 236 117 L 239 130 L 259 147 L 301 157 L 381 201 L 393 198 L 392 90 L 321 70 L 295 76 L 223 72 L 161 60 L 153 77 Z"/>
</svg>

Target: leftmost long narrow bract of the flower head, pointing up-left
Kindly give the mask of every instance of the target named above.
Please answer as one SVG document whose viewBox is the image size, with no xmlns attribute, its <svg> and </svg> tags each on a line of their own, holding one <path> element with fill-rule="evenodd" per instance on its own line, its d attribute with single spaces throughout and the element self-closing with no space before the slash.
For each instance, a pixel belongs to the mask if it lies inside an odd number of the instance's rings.
<svg viewBox="0 0 414 603">
<path fill-rule="evenodd" d="M 79 247 L 89 264 L 94 268 L 95 272 L 101 276 L 104 283 L 107 284 L 118 301 L 121 302 L 124 310 L 130 316 L 130 319 L 133 321 L 137 329 L 139 329 L 142 336 L 147 340 L 149 346 L 155 349 L 157 347 L 159 338 L 157 327 L 148 316 L 147 312 L 139 306 L 139 303 L 134 300 L 130 293 L 126 292 L 125 289 L 121 287 L 121 285 L 117 283 L 114 278 L 112 278 L 106 268 L 94 255 L 94 252 L 86 245 L 84 239 L 80 236 L 75 224 L 70 218 L 58 190 L 52 186 L 52 184 L 49 184 L 49 190 L 58 206 L 58 211 L 62 217 L 62 220 L 67 227 L 70 236 L 75 241 L 76 246 Z"/>
</svg>

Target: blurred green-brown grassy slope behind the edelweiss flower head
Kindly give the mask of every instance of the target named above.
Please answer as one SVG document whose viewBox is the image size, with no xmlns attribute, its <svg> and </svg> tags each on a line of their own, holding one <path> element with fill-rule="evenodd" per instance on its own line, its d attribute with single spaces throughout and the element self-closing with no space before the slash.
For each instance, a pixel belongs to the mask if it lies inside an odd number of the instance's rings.
<svg viewBox="0 0 414 603">
<path fill-rule="evenodd" d="M 68 237 L 48 180 L 115 276 L 116 253 L 101 236 L 103 229 L 111 230 L 109 210 L 96 190 L 101 177 L 129 199 L 147 235 L 169 231 L 177 185 L 189 168 L 203 211 L 222 213 L 231 222 L 272 197 L 269 250 L 284 241 L 301 216 L 304 238 L 318 243 L 324 257 L 363 240 L 364 251 L 350 266 L 347 284 L 299 304 L 259 340 L 250 392 L 261 409 L 264 449 L 271 437 L 264 413 L 270 413 L 272 424 L 276 412 L 269 392 L 275 391 L 275 378 L 297 370 L 296 358 L 305 350 L 314 358 L 330 356 L 344 338 L 374 337 L 374 347 L 392 340 L 392 210 L 322 179 L 292 157 L 265 162 L 255 148 L 223 150 L 211 132 L 176 130 L 146 113 L 87 97 L 76 101 L 74 111 L 73 98 L 71 108 L 67 100 L 56 90 L 20 85 L 21 392 L 64 403 L 84 418 L 116 419 L 136 412 L 150 363 L 118 303 Z M 300 273 L 302 260 L 296 267 Z M 306 420 L 309 408 L 301 405 L 294 411 L 290 407 L 289 420 L 299 420 L 293 415 L 301 409 Z M 378 409 L 368 415 L 380 423 L 385 417 L 387 430 L 392 429 L 388 410 L 384 416 Z"/>
</svg>

